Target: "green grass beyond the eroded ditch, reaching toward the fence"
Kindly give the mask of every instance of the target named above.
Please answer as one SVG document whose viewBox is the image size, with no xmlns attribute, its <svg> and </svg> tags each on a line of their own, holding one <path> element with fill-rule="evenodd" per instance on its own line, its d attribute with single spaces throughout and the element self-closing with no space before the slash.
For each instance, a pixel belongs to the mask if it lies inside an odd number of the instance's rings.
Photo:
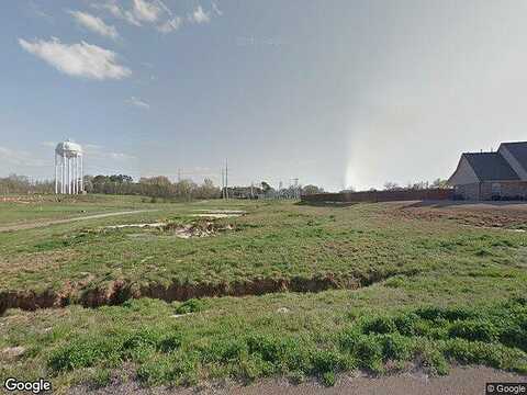
<svg viewBox="0 0 527 395">
<path fill-rule="evenodd" d="M 229 284 L 255 278 L 383 279 L 426 271 L 460 275 L 516 275 L 525 236 L 442 222 L 393 221 L 385 206 L 346 208 L 291 203 L 236 203 L 248 215 L 221 219 L 235 230 L 179 239 L 142 230 L 98 232 L 102 225 L 188 222 L 194 210 L 232 204 L 148 204 L 158 212 L 0 233 L 0 290 L 60 291 L 67 281 L 104 287 L 123 280 L 150 283 Z M 141 236 L 141 235 L 139 235 Z M 21 270 L 10 270 L 19 267 Z M 89 273 L 89 281 L 87 276 Z"/>
</svg>

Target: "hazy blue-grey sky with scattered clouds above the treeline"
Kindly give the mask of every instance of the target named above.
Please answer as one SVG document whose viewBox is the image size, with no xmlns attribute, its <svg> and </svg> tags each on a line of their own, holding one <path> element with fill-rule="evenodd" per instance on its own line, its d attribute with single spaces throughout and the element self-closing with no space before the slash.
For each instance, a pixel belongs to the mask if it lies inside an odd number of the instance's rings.
<svg viewBox="0 0 527 395">
<path fill-rule="evenodd" d="M 448 178 L 526 140 L 527 2 L 18 0 L 0 12 L 0 177 L 178 173 L 328 191 Z"/>
</svg>

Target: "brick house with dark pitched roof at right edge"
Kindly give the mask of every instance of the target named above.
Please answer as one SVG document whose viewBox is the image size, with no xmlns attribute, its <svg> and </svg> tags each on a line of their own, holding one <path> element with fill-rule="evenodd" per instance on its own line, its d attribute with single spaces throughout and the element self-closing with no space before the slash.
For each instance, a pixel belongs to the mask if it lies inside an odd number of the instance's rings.
<svg viewBox="0 0 527 395">
<path fill-rule="evenodd" d="M 526 200 L 527 142 L 503 143 L 495 153 L 464 153 L 448 180 L 466 200 Z"/>
</svg>

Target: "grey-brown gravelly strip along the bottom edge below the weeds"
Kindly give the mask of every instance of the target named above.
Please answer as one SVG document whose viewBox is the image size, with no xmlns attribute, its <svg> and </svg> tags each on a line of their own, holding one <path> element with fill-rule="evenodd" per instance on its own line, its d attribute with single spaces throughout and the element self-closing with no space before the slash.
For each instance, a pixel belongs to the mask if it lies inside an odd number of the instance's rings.
<svg viewBox="0 0 527 395">
<path fill-rule="evenodd" d="M 90 390 L 78 386 L 69 394 L 136 394 L 136 395 L 192 395 L 192 394 L 236 394 L 236 395 L 484 395 L 489 382 L 526 383 L 524 375 L 497 371 L 484 366 L 455 368 L 448 376 L 428 377 L 423 373 L 372 379 L 368 376 L 341 377 L 334 387 L 323 387 L 307 382 L 292 385 L 282 380 L 265 380 L 249 386 L 202 385 L 194 388 L 142 388 L 137 383 L 112 383 L 104 388 Z"/>
</svg>

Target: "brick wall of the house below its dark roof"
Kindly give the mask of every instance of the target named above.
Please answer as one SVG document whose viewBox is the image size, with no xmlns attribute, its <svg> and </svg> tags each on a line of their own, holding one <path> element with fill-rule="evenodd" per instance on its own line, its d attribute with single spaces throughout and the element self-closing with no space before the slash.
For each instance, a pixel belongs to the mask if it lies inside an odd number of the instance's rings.
<svg viewBox="0 0 527 395">
<path fill-rule="evenodd" d="M 493 188 L 494 184 L 494 188 Z M 494 191 L 493 191 L 494 189 Z M 456 194 L 466 200 L 527 199 L 527 181 L 482 182 L 456 185 Z"/>
</svg>

